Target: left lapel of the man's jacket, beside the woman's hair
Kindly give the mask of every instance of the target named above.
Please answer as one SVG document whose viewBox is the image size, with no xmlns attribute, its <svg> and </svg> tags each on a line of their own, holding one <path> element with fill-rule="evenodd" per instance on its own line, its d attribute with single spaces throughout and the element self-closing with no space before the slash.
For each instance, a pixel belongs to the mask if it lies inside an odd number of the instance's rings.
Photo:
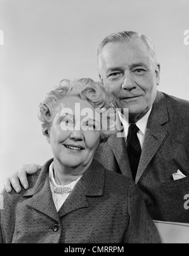
<svg viewBox="0 0 189 256">
<path fill-rule="evenodd" d="M 109 138 L 109 143 L 112 148 L 113 154 L 118 162 L 118 166 L 123 175 L 132 178 L 130 171 L 129 157 L 127 154 L 127 147 L 125 143 L 125 137 L 117 137 L 117 134 Z"/>
</svg>

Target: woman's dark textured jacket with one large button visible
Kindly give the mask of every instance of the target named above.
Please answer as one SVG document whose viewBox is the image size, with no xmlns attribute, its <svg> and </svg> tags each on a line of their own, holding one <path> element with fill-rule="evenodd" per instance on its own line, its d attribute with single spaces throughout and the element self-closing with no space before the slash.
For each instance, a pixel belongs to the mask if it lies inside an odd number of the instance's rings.
<svg viewBox="0 0 189 256">
<path fill-rule="evenodd" d="M 30 188 L 4 196 L 0 243 L 161 243 L 139 188 L 93 161 L 55 209 L 48 161 Z"/>
</svg>

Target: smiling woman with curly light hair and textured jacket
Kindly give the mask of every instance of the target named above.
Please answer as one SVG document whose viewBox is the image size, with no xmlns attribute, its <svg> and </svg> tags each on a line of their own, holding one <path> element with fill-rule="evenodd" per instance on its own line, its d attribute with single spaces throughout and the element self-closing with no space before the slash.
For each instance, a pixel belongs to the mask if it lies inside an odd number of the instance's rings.
<svg viewBox="0 0 189 256">
<path fill-rule="evenodd" d="M 93 160 L 115 132 L 112 102 L 89 78 L 47 94 L 39 119 L 54 157 L 28 177 L 27 191 L 4 195 L 1 243 L 161 242 L 134 182 Z"/>
</svg>

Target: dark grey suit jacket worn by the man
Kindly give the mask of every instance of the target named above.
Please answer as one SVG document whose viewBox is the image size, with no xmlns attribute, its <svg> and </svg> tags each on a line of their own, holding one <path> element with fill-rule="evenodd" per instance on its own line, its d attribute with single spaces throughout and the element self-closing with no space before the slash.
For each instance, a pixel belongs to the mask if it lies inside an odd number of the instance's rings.
<svg viewBox="0 0 189 256">
<path fill-rule="evenodd" d="M 113 135 L 95 158 L 132 178 L 125 138 Z M 180 171 L 186 178 L 173 180 Z M 189 222 L 189 102 L 157 92 L 135 178 L 152 219 Z"/>
</svg>

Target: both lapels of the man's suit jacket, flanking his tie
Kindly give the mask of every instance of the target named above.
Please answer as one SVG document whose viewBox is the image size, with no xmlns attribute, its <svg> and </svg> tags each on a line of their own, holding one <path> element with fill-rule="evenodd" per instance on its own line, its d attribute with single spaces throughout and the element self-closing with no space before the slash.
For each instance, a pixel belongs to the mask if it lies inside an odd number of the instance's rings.
<svg viewBox="0 0 189 256">
<path fill-rule="evenodd" d="M 159 149 L 159 146 L 164 140 L 164 137 L 166 137 L 167 131 L 164 124 L 166 124 L 168 120 L 169 116 L 166 106 L 166 99 L 162 92 L 157 91 L 156 99 L 152 105 L 151 114 L 149 115 L 149 119 L 147 121 L 144 145 L 142 148 L 135 183 L 140 180 L 140 177 L 144 173 L 147 165 L 151 161 L 154 154 L 156 154 L 157 149 Z M 117 135 L 113 135 L 108 139 L 108 142 L 110 143 L 122 174 L 132 178 L 125 139 L 118 138 Z"/>
</svg>

